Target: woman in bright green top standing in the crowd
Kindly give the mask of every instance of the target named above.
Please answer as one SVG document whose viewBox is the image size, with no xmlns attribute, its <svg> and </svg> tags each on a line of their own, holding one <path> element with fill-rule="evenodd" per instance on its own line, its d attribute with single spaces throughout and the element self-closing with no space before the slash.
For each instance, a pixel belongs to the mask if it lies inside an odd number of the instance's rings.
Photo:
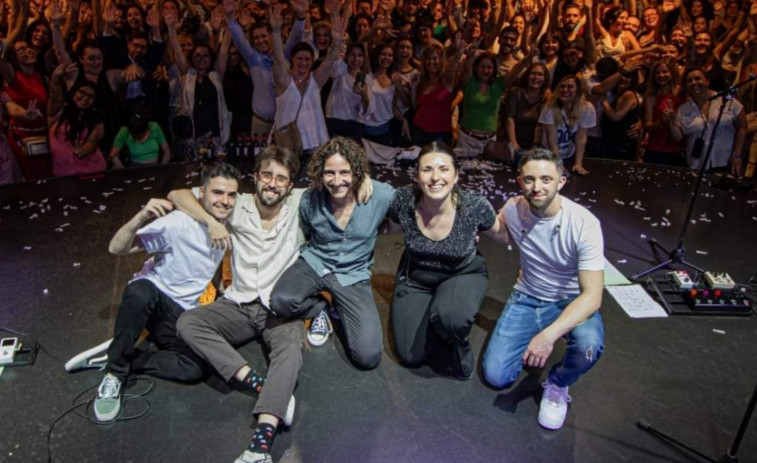
<svg viewBox="0 0 757 463">
<path fill-rule="evenodd" d="M 470 55 L 469 47 L 466 61 L 472 58 Z M 497 115 L 505 83 L 502 76 L 497 76 L 490 53 L 480 53 L 472 65 L 466 65 L 460 82 L 462 117 L 455 152 L 458 156 L 475 157 L 484 151 L 488 142 L 497 138 Z"/>
</svg>

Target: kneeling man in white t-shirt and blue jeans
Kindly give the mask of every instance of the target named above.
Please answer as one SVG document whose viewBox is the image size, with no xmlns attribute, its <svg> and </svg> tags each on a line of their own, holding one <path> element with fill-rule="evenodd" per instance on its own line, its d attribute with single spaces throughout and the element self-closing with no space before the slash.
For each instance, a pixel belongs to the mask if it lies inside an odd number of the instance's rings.
<svg viewBox="0 0 757 463">
<path fill-rule="evenodd" d="M 520 248 L 521 271 L 484 355 L 486 381 L 513 384 L 524 366 L 542 368 L 555 342 L 565 338 L 563 359 L 549 372 L 539 424 L 559 429 L 568 412 L 568 386 L 604 351 L 599 315 L 604 243 L 599 220 L 560 196 L 566 177 L 559 156 L 527 151 L 520 162 L 521 196 L 500 212 L 509 238 Z"/>
</svg>

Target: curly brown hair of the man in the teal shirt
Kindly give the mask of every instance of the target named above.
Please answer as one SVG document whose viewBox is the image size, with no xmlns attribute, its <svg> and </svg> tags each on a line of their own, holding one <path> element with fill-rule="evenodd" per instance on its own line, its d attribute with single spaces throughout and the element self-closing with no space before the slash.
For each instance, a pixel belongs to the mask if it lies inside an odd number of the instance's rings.
<svg viewBox="0 0 757 463">
<path fill-rule="evenodd" d="M 334 137 L 313 153 L 308 163 L 310 188 L 323 189 L 323 168 L 326 165 L 326 160 L 335 154 L 341 155 L 349 163 L 350 169 L 352 169 L 352 190 L 353 193 L 357 194 L 363 180 L 370 174 L 371 167 L 363 147 L 345 137 Z"/>
</svg>

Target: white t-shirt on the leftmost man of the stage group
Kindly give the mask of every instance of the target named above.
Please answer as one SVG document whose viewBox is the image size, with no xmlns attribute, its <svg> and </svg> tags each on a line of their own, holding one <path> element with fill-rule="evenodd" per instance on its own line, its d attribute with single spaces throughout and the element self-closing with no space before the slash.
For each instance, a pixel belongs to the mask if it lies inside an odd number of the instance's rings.
<svg viewBox="0 0 757 463">
<path fill-rule="evenodd" d="M 150 280 L 184 310 L 197 307 L 225 253 L 211 246 L 208 229 L 174 211 L 140 228 L 137 238 L 153 257 L 132 281 Z"/>
</svg>

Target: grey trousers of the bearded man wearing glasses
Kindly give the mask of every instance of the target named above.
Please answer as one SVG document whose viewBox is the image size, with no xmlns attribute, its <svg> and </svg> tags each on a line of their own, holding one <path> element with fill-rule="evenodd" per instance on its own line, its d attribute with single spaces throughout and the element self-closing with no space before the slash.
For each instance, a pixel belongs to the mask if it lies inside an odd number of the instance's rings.
<svg viewBox="0 0 757 463">
<path fill-rule="evenodd" d="M 219 299 L 185 312 L 176 324 L 179 336 L 226 381 L 247 361 L 234 346 L 262 338 L 270 349 L 268 374 L 253 413 L 283 419 L 302 367 L 305 326 L 268 312 L 258 302 L 238 305 Z"/>
</svg>

